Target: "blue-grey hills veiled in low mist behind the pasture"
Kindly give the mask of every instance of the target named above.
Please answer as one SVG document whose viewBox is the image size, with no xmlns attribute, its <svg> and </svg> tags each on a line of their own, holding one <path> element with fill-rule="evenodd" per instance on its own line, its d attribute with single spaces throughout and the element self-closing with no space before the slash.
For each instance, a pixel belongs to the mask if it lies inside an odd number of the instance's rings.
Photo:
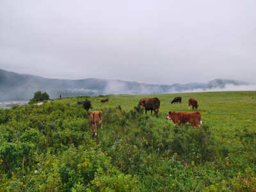
<svg viewBox="0 0 256 192">
<path fill-rule="evenodd" d="M 78 95 L 193 92 L 200 89 L 224 88 L 226 84 L 241 85 L 246 83 L 227 79 L 214 79 L 209 83 L 175 83 L 171 85 L 92 78 L 80 80 L 47 79 L 0 69 L 0 101 L 29 100 L 38 90 L 47 92 L 50 98 L 54 99 L 58 98 L 60 94 L 63 97 L 74 97 Z"/>
</svg>

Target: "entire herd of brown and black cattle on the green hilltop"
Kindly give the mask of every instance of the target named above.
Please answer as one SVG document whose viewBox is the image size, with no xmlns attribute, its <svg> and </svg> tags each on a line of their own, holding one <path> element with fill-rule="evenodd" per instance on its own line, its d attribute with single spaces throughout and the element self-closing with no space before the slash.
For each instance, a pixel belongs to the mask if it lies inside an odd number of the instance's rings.
<svg viewBox="0 0 256 192">
<path fill-rule="evenodd" d="M 100 102 L 108 102 L 108 99 L 102 99 Z M 175 97 L 172 100 L 173 103 L 181 103 L 181 97 Z M 154 98 L 142 98 L 140 99 L 140 102 L 138 106 L 142 106 L 145 108 L 145 114 L 147 115 L 147 111 L 152 111 L 155 113 L 155 117 L 158 117 L 158 111 L 160 107 L 160 100 L 157 97 Z M 188 101 L 189 111 L 190 106 L 192 106 L 193 111 L 195 112 L 171 112 L 168 111 L 166 114 L 167 120 L 172 120 L 173 124 L 177 125 L 184 125 L 184 124 L 191 124 L 193 127 L 200 128 L 200 125 L 202 124 L 202 115 L 200 112 L 198 112 L 198 102 L 196 99 L 191 98 Z M 97 136 L 97 124 L 101 124 L 101 129 L 103 125 L 103 115 L 102 111 L 92 111 L 89 113 L 89 109 L 91 108 L 90 101 L 86 100 L 83 103 L 84 109 L 87 111 L 87 114 L 90 117 L 90 130 L 93 131 L 93 134 Z"/>
</svg>

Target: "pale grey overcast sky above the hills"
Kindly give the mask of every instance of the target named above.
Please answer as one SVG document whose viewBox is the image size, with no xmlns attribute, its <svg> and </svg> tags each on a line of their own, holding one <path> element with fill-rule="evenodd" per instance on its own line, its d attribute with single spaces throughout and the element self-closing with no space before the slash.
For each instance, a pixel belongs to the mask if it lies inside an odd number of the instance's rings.
<svg viewBox="0 0 256 192">
<path fill-rule="evenodd" d="M 58 79 L 255 84 L 255 10 L 255 0 L 0 0 L 0 68 Z"/>
</svg>

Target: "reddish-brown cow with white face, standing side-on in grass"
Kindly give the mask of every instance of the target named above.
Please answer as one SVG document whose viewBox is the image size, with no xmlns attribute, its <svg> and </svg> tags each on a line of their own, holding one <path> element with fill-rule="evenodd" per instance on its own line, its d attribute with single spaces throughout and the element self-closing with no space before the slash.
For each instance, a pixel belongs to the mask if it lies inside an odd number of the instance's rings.
<svg viewBox="0 0 256 192">
<path fill-rule="evenodd" d="M 167 120 L 172 120 L 173 124 L 184 125 L 191 124 L 193 127 L 200 128 L 202 124 L 202 115 L 196 112 L 171 112 L 166 116 Z"/>
</svg>

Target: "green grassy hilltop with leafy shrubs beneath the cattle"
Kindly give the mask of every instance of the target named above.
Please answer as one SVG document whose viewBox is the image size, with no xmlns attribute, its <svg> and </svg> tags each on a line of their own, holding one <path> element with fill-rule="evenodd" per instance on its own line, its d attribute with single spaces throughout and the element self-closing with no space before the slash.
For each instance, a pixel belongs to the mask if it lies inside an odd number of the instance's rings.
<svg viewBox="0 0 256 192">
<path fill-rule="evenodd" d="M 106 97 L 0 109 L 0 191 L 255 191 L 256 92 Z M 143 97 L 159 98 L 159 118 L 137 107 Z M 165 119 L 191 97 L 201 129 Z M 103 112 L 97 138 L 86 99 Z"/>
</svg>

